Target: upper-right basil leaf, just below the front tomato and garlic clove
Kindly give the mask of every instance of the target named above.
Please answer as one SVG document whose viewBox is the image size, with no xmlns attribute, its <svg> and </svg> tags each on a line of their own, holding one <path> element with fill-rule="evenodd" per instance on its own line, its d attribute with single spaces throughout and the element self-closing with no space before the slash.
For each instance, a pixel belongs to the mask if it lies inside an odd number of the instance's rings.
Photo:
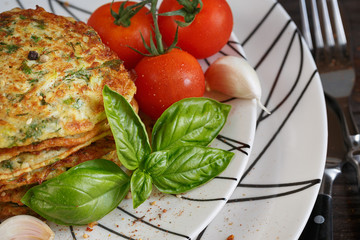
<svg viewBox="0 0 360 240">
<path fill-rule="evenodd" d="M 154 151 L 207 146 L 224 126 L 230 105 L 209 98 L 186 98 L 171 105 L 155 123 Z"/>
</svg>

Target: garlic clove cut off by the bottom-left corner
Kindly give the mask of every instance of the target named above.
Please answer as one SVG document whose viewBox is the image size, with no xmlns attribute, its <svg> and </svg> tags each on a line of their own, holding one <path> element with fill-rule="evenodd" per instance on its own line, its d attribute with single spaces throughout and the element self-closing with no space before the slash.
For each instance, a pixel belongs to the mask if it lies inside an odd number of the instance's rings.
<svg viewBox="0 0 360 240">
<path fill-rule="evenodd" d="M 50 227 L 29 215 L 18 215 L 6 219 L 0 224 L 0 238 L 11 240 L 53 240 L 54 232 Z"/>
</svg>

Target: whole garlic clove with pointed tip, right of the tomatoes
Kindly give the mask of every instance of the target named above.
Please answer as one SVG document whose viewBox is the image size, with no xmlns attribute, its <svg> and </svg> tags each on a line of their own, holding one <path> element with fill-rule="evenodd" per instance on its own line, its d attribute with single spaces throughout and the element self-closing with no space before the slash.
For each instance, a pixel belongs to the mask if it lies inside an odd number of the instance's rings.
<svg viewBox="0 0 360 240">
<path fill-rule="evenodd" d="M 207 88 L 228 96 L 256 99 L 268 114 L 269 110 L 260 102 L 261 85 L 256 71 L 241 57 L 223 56 L 215 60 L 205 72 Z"/>
</svg>

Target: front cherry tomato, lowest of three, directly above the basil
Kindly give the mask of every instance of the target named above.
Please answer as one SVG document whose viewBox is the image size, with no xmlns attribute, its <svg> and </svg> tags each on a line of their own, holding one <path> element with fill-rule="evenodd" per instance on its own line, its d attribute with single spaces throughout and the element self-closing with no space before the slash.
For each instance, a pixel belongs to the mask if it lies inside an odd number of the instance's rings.
<svg viewBox="0 0 360 240">
<path fill-rule="evenodd" d="M 188 97 L 201 97 L 205 78 L 198 61 L 189 53 L 172 49 L 170 52 L 144 57 L 135 67 L 139 108 L 157 119 L 170 105 Z"/>
</svg>

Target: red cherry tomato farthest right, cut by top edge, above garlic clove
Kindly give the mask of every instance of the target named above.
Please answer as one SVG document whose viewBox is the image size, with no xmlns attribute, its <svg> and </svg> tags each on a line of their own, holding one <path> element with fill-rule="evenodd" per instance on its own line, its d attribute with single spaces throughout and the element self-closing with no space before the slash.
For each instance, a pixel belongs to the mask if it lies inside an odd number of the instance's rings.
<svg viewBox="0 0 360 240">
<path fill-rule="evenodd" d="M 203 8 L 187 27 L 179 27 L 177 46 L 198 59 L 207 58 L 221 50 L 229 40 L 233 16 L 226 0 L 202 0 Z M 176 0 L 164 0 L 159 13 L 182 8 Z M 159 28 L 166 44 L 174 40 L 177 21 L 181 16 L 159 16 Z"/>
</svg>

